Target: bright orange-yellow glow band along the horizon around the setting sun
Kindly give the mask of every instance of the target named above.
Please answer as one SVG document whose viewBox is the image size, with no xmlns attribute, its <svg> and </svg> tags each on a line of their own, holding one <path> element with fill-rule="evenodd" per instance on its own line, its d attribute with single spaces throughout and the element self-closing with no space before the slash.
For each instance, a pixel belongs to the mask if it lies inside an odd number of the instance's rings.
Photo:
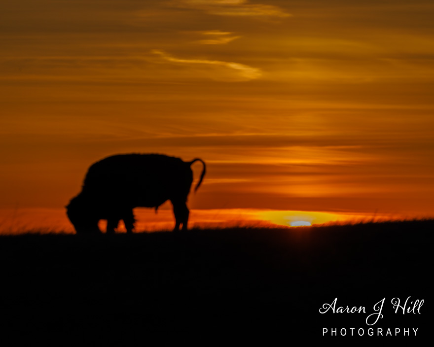
<svg viewBox="0 0 434 347">
<path fill-rule="evenodd" d="M 136 208 L 136 232 L 171 231 L 174 227 L 170 209 Z M 191 209 L 189 228 L 236 228 L 236 227 L 297 227 L 328 223 L 363 223 L 402 219 L 402 216 L 377 214 L 343 214 L 309 211 L 262 210 L 249 208 Z M 63 208 L 0 209 L 0 235 L 21 233 L 74 233 L 71 222 Z M 101 220 L 102 231 L 107 221 Z M 126 232 L 123 223 L 118 232 Z"/>
</svg>

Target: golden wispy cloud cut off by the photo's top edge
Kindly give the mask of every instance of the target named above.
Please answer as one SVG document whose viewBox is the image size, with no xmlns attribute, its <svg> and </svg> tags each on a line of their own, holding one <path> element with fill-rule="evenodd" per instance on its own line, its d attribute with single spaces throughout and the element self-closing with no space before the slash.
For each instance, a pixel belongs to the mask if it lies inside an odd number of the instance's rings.
<svg viewBox="0 0 434 347">
<path fill-rule="evenodd" d="M 249 0 L 173 0 L 177 7 L 195 8 L 219 16 L 289 17 L 284 9 L 274 5 L 250 3 Z"/>
</svg>

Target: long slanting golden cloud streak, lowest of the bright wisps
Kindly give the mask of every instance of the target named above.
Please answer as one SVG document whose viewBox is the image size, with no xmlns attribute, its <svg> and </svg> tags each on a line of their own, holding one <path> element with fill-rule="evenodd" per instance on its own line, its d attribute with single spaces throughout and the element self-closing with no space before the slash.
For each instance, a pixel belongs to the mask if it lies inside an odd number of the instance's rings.
<svg viewBox="0 0 434 347">
<path fill-rule="evenodd" d="M 163 60 L 170 63 L 223 67 L 229 69 L 229 71 L 232 72 L 229 75 L 217 73 L 215 79 L 223 79 L 227 81 L 248 81 L 248 80 L 259 78 L 261 76 L 260 69 L 252 68 L 244 64 L 233 63 L 233 62 L 222 62 L 219 60 L 179 59 L 167 54 L 164 51 L 156 50 L 156 49 L 152 50 L 151 53 L 159 55 Z M 235 72 L 235 75 L 233 74 L 233 72 Z"/>
</svg>

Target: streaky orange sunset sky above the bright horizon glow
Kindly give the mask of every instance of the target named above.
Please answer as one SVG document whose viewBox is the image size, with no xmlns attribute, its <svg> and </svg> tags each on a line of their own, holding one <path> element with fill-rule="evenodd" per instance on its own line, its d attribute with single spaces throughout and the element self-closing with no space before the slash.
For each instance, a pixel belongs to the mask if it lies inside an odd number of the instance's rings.
<svg viewBox="0 0 434 347">
<path fill-rule="evenodd" d="M 204 159 L 189 206 L 230 220 L 433 216 L 433 18 L 431 0 L 0 0 L 0 224 L 63 213 L 130 152 Z"/>
</svg>

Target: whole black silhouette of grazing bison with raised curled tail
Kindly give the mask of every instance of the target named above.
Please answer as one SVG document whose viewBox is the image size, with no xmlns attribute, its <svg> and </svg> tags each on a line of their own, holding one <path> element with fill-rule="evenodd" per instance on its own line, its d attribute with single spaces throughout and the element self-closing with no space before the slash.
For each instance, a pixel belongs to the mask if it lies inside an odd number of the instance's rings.
<svg viewBox="0 0 434 347">
<path fill-rule="evenodd" d="M 203 164 L 202 174 L 194 188 L 197 191 L 206 172 L 202 159 L 184 162 L 162 154 L 119 154 L 102 159 L 87 171 L 81 192 L 67 208 L 77 234 L 101 233 L 98 222 L 107 219 L 107 234 L 114 233 L 124 221 L 132 233 L 133 208 L 157 208 L 170 200 L 175 214 L 175 231 L 187 229 L 189 210 L 186 202 L 193 182 L 191 165 Z"/>
</svg>

